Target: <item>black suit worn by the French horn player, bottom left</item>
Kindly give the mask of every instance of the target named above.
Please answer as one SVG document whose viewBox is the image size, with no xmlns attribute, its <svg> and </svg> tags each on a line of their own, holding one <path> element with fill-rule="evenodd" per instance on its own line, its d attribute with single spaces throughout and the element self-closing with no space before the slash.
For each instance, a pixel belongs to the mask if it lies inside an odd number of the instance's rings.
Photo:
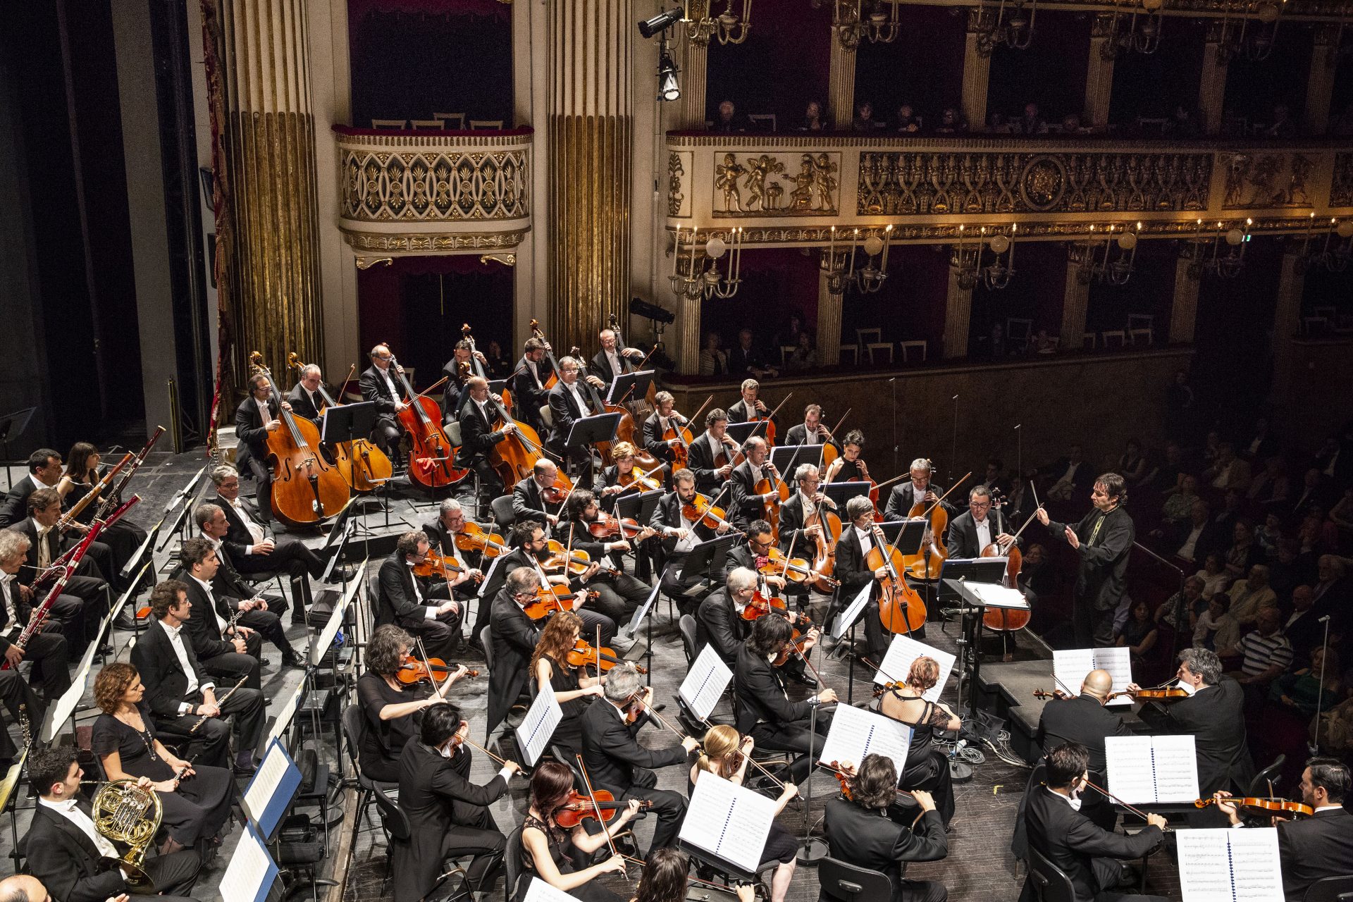
<svg viewBox="0 0 1353 902">
<path fill-rule="evenodd" d="M 61 806 L 73 805 L 93 829 L 89 803 L 76 797 Z M 108 842 L 111 847 L 112 844 Z M 47 895 L 61 902 L 106 902 L 130 893 L 127 882 L 115 868 L 106 867 L 104 855 L 93 840 L 57 807 L 38 801 L 32 824 L 23 837 L 28 872 L 42 880 Z M 202 859 L 192 849 L 147 857 L 142 865 L 162 895 L 157 902 L 193 902 L 187 894 L 202 870 Z"/>
</svg>

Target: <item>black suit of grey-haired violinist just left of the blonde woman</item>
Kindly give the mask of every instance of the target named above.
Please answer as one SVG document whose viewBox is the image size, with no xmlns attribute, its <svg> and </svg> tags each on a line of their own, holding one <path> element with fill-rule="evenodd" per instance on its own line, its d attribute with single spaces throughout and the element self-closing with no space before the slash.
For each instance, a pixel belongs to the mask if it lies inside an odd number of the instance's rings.
<svg viewBox="0 0 1353 902">
<path fill-rule="evenodd" d="M 625 722 L 624 713 L 605 699 L 598 699 L 583 713 L 583 764 L 593 787 L 607 790 L 617 799 L 649 799 L 658 817 L 651 849 L 675 844 L 681 820 L 686 814 L 686 799 L 681 792 L 659 790 L 658 775 L 651 768 L 681 764 L 686 749 L 672 745 L 649 749 L 635 738 L 648 719 L 641 715 L 633 723 Z"/>
</svg>

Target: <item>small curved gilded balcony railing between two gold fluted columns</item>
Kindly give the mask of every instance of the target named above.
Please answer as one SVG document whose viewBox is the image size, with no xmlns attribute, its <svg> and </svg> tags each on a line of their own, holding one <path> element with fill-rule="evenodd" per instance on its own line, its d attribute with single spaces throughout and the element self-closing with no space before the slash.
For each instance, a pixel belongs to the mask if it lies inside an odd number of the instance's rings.
<svg viewBox="0 0 1353 902">
<path fill-rule="evenodd" d="M 530 229 L 530 128 L 334 131 L 340 229 L 359 252 L 502 250 Z"/>
</svg>

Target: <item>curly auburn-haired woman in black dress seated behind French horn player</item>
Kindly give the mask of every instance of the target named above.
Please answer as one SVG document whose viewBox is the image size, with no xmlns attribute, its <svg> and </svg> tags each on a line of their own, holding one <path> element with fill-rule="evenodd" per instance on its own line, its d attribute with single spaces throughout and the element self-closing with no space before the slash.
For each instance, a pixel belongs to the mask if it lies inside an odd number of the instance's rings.
<svg viewBox="0 0 1353 902">
<path fill-rule="evenodd" d="M 193 765 L 170 753 L 158 738 L 141 676 L 131 664 L 108 664 L 93 682 L 103 711 L 93 722 L 93 753 L 108 780 L 149 782 L 164 809 L 168 837 L 160 853 L 196 848 L 211 859 L 230 821 L 234 779 L 223 767 Z"/>
</svg>

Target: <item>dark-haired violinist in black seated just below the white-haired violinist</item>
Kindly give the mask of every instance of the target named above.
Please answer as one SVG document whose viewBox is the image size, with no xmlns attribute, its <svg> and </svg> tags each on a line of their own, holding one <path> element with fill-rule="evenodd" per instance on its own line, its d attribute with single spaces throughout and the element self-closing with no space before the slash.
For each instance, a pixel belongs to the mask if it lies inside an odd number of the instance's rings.
<svg viewBox="0 0 1353 902">
<path fill-rule="evenodd" d="M 735 714 L 737 732 L 751 736 L 758 746 L 798 755 L 790 774 L 794 783 L 802 783 L 821 752 L 832 721 L 831 713 L 819 711 L 815 734 L 809 732 L 809 714 L 813 707 L 835 703 L 836 690 L 825 688 L 804 702 L 789 701 L 785 672 L 774 661 L 790 649 L 792 638 L 793 626 L 783 617 L 760 617 L 752 623 L 752 633 L 739 649 L 733 668 Z M 817 630 L 808 630 L 797 640 L 800 653 L 806 656 L 816 641 Z M 794 655 L 789 650 L 790 657 Z"/>
</svg>

